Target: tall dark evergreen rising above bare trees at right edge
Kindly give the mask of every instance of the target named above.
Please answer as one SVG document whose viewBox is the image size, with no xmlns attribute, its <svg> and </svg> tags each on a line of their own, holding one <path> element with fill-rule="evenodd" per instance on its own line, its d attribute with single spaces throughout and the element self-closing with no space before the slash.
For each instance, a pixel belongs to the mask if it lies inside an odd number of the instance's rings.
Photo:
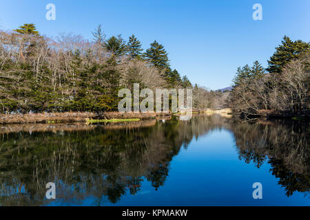
<svg viewBox="0 0 310 220">
<path fill-rule="evenodd" d="M 267 71 L 270 73 L 280 73 L 282 68 L 289 61 L 299 58 L 300 54 L 304 54 L 310 50 L 310 44 L 303 41 L 291 41 L 288 36 L 284 36 L 282 45 L 276 47 L 276 52 L 268 61 L 269 67 Z"/>
</svg>

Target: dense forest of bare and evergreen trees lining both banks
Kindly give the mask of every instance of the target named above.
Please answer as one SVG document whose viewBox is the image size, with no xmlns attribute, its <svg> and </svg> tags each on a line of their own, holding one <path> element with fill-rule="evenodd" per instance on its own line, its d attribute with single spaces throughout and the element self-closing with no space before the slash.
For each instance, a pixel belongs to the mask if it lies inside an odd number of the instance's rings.
<svg viewBox="0 0 310 220">
<path fill-rule="evenodd" d="M 269 67 L 239 67 L 231 91 L 208 91 L 171 69 L 154 41 L 143 52 L 134 36 L 107 38 L 99 25 L 92 40 L 41 35 L 34 24 L 0 30 L 0 112 L 116 111 L 119 89 L 192 88 L 194 109 L 230 107 L 242 118 L 270 112 L 309 115 L 310 44 L 288 36 Z"/>
</svg>

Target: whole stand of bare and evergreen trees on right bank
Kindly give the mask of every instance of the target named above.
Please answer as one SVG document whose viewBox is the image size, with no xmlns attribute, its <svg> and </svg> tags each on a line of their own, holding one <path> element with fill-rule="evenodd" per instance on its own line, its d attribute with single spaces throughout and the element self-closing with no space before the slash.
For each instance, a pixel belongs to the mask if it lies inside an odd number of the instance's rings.
<svg viewBox="0 0 310 220">
<path fill-rule="evenodd" d="M 309 115 L 310 44 L 285 36 L 268 63 L 267 69 L 258 61 L 238 68 L 228 99 L 233 113 Z"/>
</svg>

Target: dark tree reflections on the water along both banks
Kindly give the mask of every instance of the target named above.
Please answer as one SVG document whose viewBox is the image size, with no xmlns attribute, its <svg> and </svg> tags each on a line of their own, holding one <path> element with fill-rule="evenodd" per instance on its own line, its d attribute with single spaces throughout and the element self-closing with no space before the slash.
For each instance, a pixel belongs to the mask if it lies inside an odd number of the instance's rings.
<svg viewBox="0 0 310 220">
<path fill-rule="evenodd" d="M 49 126 L 49 127 L 48 127 Z M 57 199 L 96 206 L 136 195 L 143 181 L 156 190 L 181 148 L 214 129 L 234 135 L 239 158 L 258 168 L 267 162 L 287 197 L 309 192 L 309 122 L 234 122 L 220 115 L 190 121 L 123 124 L 55 124 L 0 128 L 1 206 L 48 205 L 45 184 L 56 183 Z"/>
</svg>

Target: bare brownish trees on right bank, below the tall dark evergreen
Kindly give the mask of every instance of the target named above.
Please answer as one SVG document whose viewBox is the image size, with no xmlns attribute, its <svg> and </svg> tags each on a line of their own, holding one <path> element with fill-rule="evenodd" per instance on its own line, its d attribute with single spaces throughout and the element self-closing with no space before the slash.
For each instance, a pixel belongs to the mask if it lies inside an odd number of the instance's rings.
<svg viewBox="0 0 310 220">
<path fill-rule="evenodd" d="M 265 74 L 254 62 L 253 67 L 238 68 L 229 94 L 229 104 L 241 118 L 260 115 L 307 115 L 309 111 L 309 51 L 282 68 L 280 74 Z"/>
</svg>

